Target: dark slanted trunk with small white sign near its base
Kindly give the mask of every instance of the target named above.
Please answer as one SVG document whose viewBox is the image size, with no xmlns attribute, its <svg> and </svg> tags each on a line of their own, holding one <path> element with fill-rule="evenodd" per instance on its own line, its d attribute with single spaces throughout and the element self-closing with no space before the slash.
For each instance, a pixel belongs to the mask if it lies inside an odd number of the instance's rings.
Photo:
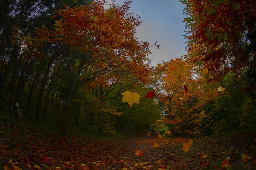
<svg viewBox="0 0 256 170">
<path fill-rule="evenodd" d="M 21 91 L 21 88 L 22 88 L 22 85 L 23 85 L 24 76 L 25 76 L 26 68 L 27 68 L 28 64 L 29 64 L 29 61 L 26 60 L 24 65 L 23 65 L 23 69 L 21 71 L 20 78 L 18 80 L 18 84 L 17 84 L 17 88 L 16 88 L 16 93 L 15 93 L 15 97 L 14 97 L 14 102 L 13 102 L 13 108 L 12 108 L 12 110 L 14 111 L 15 116 L 17 116 L 17 106 L 16 106 L 16 103 L 19 100 L 19 95 L 20 95 L 20 91 Z"/>
</svg>

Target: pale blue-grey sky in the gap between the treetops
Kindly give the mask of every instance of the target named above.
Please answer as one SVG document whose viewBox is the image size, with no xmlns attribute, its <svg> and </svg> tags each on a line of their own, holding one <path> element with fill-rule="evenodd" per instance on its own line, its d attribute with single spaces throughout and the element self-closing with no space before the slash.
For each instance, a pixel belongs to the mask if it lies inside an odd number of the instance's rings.
<svg viewBox="0 0 256 170">
<path fill-rule="evenodd" d="M 119 5 L 124 2 L 115 0 Z M 182 36 L 185 30 L 182 21 L 186 17 L 182 14 L 184 7 L 179 0 L 132 0 L 130 11 L 139 15 L 143 22 L 137 28 L 137 37 L 151 45 L 157 40 L 159 44 L 164 44 L 159 49 L 151 47 L 152 54 L 148 57 L 153 59 L 151 65 L 186 54 L 186 40 Z"/>
</svg>

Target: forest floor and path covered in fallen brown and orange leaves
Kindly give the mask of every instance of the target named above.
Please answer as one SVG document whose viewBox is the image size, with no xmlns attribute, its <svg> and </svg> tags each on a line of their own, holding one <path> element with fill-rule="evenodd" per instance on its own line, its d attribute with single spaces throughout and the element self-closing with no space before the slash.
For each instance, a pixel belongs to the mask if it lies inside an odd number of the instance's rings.
<svg viewBox="0 0 256 170">
<path fill-rule="evenodd" d="M 196 170 L 256 169 L 256 134 L 218 138 L 62 137 L 29 126 L 0 122 L 0 170 Z M 153 144 L 159 147 L 153 147 Z M 144 156 L 135 155 L 140 150 Z M 242 155 L 243 154 L 243 155 Z M 221 167 L 230 157 L 227 168 Z"/>
</svg>

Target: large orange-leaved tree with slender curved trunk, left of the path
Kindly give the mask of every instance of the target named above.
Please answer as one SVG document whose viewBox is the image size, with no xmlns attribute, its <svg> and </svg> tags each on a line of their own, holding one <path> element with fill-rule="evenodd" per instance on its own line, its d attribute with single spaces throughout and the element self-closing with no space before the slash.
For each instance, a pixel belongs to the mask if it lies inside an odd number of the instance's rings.
<svg viewBox="0 0 256 170">
<path fill-rule="evenodd" d="M 54 29 L 43 26 L 36 31 L 37 37 L 21 38 L 29 54 L 65 60 L 61 62 L 61 70 L 69 72 L 71 82 L 65 82 L 69 93 L 64 106 L 61 135 L 66 133 L 70 103 L 79 85 L 110 72 L 140 77 L 146 71 L 143 62 L 149 50 L 148 42 L 136 40 L 135 28 L 141 22 L 139 17 L 128 13 L 131 2 L 122 6 L 113 4 L 108 9 L 104 8 L 104 3 L 96 1 L 92 5 L 66 6 L 66 9 L 56 11 L 56 17 L 61 19 L 55 21 Z M 61 44 L 64 51 L 56 48 Z M 54 48 L 54 53 L 49 53 L 45 47 Z"/>
</svg>

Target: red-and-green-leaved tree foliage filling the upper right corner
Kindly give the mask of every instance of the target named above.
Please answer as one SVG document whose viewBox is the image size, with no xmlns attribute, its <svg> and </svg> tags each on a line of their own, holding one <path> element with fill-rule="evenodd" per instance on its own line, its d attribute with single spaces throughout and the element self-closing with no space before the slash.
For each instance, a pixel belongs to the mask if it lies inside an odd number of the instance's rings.
<svg viewBox="0 0 256 170">
<path fill-rule="evenodd" d="M 186 61 L 209 70 L 209 81 L 230 72 L 243 77 L 243 90 L 255 101 L 256 3 L 250 0 L 180 0 L 188 16 Z M 256 104 L 256 102 L 254 102 Z"/>
</svg>

